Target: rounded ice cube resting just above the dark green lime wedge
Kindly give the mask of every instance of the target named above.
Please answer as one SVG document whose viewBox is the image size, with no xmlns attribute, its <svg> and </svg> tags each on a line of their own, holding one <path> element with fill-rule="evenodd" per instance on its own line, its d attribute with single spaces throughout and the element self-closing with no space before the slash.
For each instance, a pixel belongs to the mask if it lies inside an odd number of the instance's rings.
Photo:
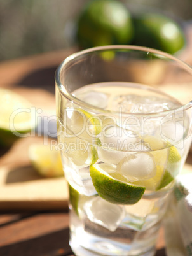
<svg viewBox="0 0 192 256">
<path fill-rule="evenodd" d="M 151 153 L 135 153 L 122 159 L 117 170 L 130 182 L 148 180 L 155 176 L 156 164 Z"/>
</svg>

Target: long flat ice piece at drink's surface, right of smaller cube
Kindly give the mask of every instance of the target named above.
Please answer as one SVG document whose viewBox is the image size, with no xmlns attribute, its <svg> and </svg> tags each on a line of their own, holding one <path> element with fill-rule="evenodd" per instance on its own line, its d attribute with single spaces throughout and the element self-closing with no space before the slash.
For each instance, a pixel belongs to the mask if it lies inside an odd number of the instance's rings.
<svg viewBox="0 0 192 256">
<path fill-rule="evenodd" d="M 137 96 L 134 94 L 114 97 L 113 110 L 126 113 L 158 113 L 177 108 L 178 104 L 156 96 Z"/>
</svg>

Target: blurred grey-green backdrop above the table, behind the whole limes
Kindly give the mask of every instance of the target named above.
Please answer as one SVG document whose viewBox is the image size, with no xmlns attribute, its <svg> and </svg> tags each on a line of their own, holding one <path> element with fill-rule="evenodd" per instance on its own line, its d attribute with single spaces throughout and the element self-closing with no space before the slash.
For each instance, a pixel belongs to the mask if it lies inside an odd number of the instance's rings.
<svg viewBox="0 0 192 256">
<path fill-rule="evenodd" d="M 132 8 L 159 8 L 189 21 L 191 0 L 122 0 Z M 0 0 L 0 61 L 69 47 L 88 0 Z"/>
</svg>

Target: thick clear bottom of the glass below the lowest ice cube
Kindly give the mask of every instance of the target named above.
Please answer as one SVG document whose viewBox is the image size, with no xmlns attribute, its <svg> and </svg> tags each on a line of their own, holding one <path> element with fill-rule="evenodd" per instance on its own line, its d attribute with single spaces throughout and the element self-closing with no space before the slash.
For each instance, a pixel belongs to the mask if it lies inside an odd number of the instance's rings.
<svg viewBox="0 0 192 256">
<path fill-rule="evenodd" d="M 71 212 L 69 244 L 76 256 L 153 256 L 161 222 L 145 231 L 118 227 L 111 232 Z"/>
</svg>

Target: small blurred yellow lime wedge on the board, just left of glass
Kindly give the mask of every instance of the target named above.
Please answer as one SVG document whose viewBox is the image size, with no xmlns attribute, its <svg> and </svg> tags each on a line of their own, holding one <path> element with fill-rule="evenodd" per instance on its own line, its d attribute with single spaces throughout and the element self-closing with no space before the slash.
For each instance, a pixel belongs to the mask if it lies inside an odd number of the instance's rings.
<svg viewBox="0 0 192 256">
<path fill-rule="evenodd" d="M 48 178 L 64 176 L 60 152 L 50 145 L 32 144 L 29 147 L 29 159 L 41 176 Z"/>
</svg>

